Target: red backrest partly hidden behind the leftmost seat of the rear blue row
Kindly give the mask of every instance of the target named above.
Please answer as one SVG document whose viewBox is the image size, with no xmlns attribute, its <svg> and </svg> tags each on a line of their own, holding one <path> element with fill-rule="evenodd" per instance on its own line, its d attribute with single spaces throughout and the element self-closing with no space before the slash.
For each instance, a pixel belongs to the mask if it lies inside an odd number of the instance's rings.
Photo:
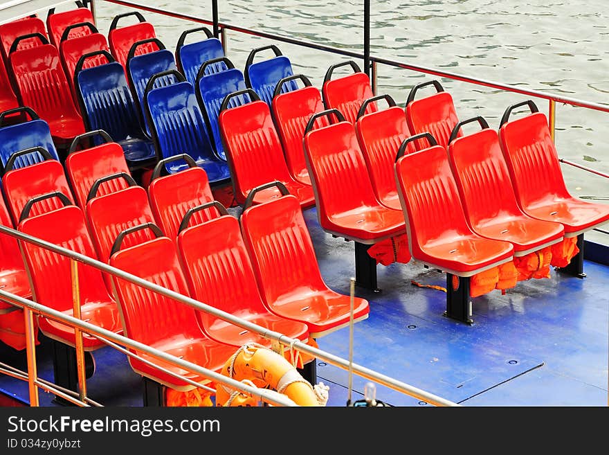
<svg viewBox="0 0 609 455">
<path fill-rule="evenodd" d="M 83 35 L 78 38 L 64 39 L 60 42 L 60 59 L 64 66 L 66 78 L 70 84 L 75 95 L 75 100 L 78 102 L 78 96 L 75 90 L 75 75 L 81 69 L 92 68 L 104 63 L 112 62 L 114 58 L 111 57 L 110 49 L 106 37 L 101 33 L 91 33 L 89 35 Z M 100 51 L 104 51 L 102 53 Z M 87 55 L 82 61 L 82 64 L 78 64 L 83 55 Z M 122 66 L 121 66 L 122 69 Z"/>
</svg>

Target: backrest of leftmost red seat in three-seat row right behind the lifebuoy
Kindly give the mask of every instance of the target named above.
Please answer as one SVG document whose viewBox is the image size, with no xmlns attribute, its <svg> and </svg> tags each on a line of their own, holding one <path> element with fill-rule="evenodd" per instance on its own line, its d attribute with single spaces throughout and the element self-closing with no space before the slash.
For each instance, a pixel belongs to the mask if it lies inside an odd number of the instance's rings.
<svg viewBox="0 0 609 455">
<path fill-rule="evenodd" d="M 121 249 L 110 265 L 188 296 L 172 240 L 161 237 Z M 181 335 L 201 336 L 194 308 L 120 278 L 113 278 L 125 336 L 148 345 Z"/>
</svg>

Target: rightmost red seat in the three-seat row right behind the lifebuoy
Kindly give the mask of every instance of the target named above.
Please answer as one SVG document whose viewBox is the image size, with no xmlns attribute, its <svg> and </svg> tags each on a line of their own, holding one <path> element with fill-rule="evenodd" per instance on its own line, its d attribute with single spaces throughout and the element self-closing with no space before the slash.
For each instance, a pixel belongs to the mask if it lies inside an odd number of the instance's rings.
<svg viewBox="0 0 609 455">
<path fill-rule="evenodd" d="M 319 338 L 349 325 L 350 297 L 325 284 L 298 199 L 286 195 L 248 207 L 243 238 L 258 289 L 275 314 L 309 325 Z M 354 321 L 366 319 L 368 302 L 354 297 Z"/>
</svg>

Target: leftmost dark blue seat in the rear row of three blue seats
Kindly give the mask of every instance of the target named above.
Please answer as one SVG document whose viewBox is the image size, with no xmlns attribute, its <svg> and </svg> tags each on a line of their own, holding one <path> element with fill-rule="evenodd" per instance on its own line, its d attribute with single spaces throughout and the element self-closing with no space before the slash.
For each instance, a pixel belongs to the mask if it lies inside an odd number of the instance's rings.
<svg viewBox="0 0 609 455">
<path fill-rule="evenodd" d="M 104 55 L 109 63 L 81 69 L 84 60 L 97 54 Z M 142 130 L 122 65 L 107 51 L 96 51 L 80 58 L 75 73 L 78 102 L 87 130 L 107 132 L 125 152 L 131 170 L 156 161 L 154 144 Z"/>
</svg>

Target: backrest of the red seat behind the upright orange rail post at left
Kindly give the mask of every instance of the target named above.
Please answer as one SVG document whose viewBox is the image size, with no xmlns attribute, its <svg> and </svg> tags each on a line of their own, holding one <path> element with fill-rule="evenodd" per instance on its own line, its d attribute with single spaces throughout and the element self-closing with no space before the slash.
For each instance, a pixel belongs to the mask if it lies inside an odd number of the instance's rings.
<svg viewBox="0 0 609 455">
<path fill-rule="evenodd" d="M 19 224 L 19 231 L 97 259 L 82 210 L 66 206 Z M 73 308 L 70 258 L 24 242 L 24 257 L 37 302 L 65 311 Z M 111 301 L 98 269 L 78 262 L 80 303 Z"/>
</svg>

